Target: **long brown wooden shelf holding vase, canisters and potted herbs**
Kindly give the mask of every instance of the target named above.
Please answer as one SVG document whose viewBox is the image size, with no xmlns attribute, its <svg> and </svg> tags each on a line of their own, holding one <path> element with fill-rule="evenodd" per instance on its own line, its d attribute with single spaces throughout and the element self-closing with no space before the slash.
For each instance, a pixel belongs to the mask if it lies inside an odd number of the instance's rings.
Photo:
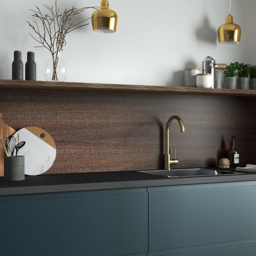
<svg viewBox="0 0 256 256">
<path fill-rule="evenodd" d="M 44 89 L 44 90 L 81 90 L 81 91 L 119 91 L 134 93 L 169 93 L 169 94 L 197 94 L 197 95 L 229 95 L 256 97 L 256 90 L 208 89 L 195 87 L 169 87 L 129 84 L 97 84 L 46 82 L 27 80 L 0 80 L 0 88 L 15 89 Z"/>
</svg>

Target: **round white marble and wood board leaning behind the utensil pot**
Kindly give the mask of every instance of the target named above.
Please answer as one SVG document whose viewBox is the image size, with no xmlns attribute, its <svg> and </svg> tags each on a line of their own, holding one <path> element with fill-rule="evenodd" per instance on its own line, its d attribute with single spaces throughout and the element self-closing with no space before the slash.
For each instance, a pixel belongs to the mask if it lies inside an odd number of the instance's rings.
<svg viewBox="0 0 256 256">
<path fill-rule="evenodd" d="M 26 127 L 14 134 L 14 137 L 26 141 L 29 146 L 19 149 L 19 155 L 25 156 L 25 174 L 38 175 L 46 172 L 56 157 L 56 146 L 48 132 L 38 127 Z"/>
</svg>

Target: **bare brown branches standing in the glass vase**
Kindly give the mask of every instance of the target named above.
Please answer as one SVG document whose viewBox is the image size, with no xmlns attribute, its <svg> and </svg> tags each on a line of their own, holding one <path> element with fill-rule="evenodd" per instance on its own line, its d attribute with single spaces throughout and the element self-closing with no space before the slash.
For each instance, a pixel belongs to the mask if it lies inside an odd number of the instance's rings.
<svg viewBox="0 0 256 256">
<path fill-rule="evenodd" d="M 81 9 L 72 7 L 69 10 L 65 9 L 65 11 L 61 14 L 60 8 L 57 7 L 57 0 L 55 0 L 55 6 L 43 6 L 47 9 L 47 14 L 42 14 L 37 6 L 35 6 L 36 10 L 29 9 L 30 11 L 34 12 L 32 17 L 39 19 L 39 21 L 42 23 L 42 28 L 40 31 L 37 21 L 34 21 L 34 25 L 27 22 L 34 30 L 36 36 L 32 35 L 31 33 L 29 34 L 35 39 L 35 41 L 41 44 L 40 46 L 35 47 L 45 47 L 50 51 L 53 59 L 52 80 L 58 81 L 56 68 L 59 60 L 59 53 L 66 45 L 66 35 L 75 29 L 89 25 L 89 23 L 86 22 L 91 18 L 84 19 L 83 21 L 79 22 L 78 15 L 89 8 L 98 10 L 98 7 L 84 7 Z"/>
</svg>

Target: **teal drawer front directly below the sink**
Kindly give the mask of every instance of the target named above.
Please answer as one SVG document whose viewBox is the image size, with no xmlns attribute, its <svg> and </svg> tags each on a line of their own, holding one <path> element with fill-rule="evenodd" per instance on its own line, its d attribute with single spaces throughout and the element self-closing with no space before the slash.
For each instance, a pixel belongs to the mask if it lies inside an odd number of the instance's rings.
<svg viewBox="0 0 256 256">
<path fill-rule="evenodd" d="M 149 251 L 256 238 L 255 194 L 255 185 L 150 192 Z"/>
</svg>

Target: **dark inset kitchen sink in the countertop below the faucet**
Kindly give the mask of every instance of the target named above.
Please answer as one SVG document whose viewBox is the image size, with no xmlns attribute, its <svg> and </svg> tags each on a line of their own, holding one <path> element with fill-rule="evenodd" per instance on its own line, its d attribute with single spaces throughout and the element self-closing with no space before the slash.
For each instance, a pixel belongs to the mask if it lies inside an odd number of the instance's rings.
<svg viewBox="0 0 256 256">
<path fill-rule="evenodd" d="M 158 176 L 165 176 L 168 178 L 243 174 L 243 173 L 236 173 L 236 172 L 230 172 L 225 170 L 221 170 L 221 171 L 211 170 L 206 168 L 149 170 L 149 171 L 138 171 L 138 172 L 154 174 Z"/>
</svg>

